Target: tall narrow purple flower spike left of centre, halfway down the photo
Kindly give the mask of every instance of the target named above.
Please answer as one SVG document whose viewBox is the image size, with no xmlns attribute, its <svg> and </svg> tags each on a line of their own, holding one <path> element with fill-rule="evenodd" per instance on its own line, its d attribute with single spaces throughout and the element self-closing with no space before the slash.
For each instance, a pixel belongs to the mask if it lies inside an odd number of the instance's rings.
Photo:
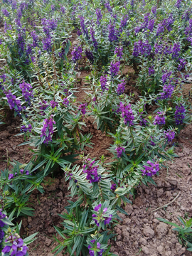
<svg viewBox="0 0 192 256">
<path fill-rule="evenodd" d="M 53 134 L 53 124 L 55 124 L 55 121 L 53 120 L 52 116 L 50 118 L 45 119 L 43 122 L 43 128 L 41 129 L 42 134 L 40 137 L 45 137 L 43 143 L 48 144 L 48 142 L 52 141 L 51 135 Z"/>
</svg>

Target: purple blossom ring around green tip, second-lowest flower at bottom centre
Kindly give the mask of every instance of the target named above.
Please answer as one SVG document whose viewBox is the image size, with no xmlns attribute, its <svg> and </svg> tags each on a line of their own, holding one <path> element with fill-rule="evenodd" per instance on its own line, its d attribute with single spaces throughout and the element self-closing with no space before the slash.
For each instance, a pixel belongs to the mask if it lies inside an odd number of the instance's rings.
<svg viewBox="0 0 192 256">
<path fill-rule="evenodd" d="M 92 220 L 95 221 L 95 224 L 97 225 L 97 227 L 100 227 L 100 223 L 102 223 L 104 221 L 104 225 L 107 225 L 110 223 L 110 221 L 112 220 L 112 214 L 109 215 L 109 217 L 105 217 L 103 215 L 105 215 L 107 213 L 108 208 L 104 208 L 103 211 L 100 211 L 100 208 L 102 207 L 102 204 L 100 203 L 98 206 L 95 206 L 94 210 L 97 213 L 92 214 Z"/>
</svg>

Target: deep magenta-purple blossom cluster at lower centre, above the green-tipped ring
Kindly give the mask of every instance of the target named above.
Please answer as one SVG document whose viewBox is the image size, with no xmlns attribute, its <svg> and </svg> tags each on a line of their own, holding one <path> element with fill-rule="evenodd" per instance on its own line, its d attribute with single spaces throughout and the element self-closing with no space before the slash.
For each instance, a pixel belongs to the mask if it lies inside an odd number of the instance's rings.
<svg viewBox="0 0 192 256">
<path fill-rule="evenodd" d="M 90 183 L 99 182 L 101 178 L 101 176 L 98 176 L 97 174 L 97 169 L 99 166 L 93 166 L 93 164 L 95 164 L 94 160 L 92 161 L 91 159 L 87 159 L 83 165 L 83 172 L 87 174 L 86 178 L 90 181 Z"/>
</svg>

